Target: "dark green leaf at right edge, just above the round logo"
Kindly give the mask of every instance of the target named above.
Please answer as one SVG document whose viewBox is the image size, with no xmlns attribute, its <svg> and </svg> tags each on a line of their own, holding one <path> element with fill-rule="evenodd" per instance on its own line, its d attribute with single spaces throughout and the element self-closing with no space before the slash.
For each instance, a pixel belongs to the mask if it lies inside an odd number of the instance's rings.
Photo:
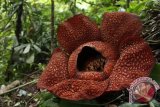
<svg viewBox="0 0 160 107">
<path fill-rule="evenodd" d="M 160 63 L 155 64 L 150 77 L 156 82 L 160 83 Z"/>
</svg>

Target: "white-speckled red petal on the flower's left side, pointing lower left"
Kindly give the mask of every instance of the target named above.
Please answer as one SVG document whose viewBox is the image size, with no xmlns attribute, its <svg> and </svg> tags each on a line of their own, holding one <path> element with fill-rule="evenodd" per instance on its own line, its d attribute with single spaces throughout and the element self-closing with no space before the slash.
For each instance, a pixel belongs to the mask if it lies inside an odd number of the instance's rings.
<svg viewBox="0 0 160 107">
<path fill-rule="evenodd" d="M 48 89 L 67 79 L 67 66 L 68 57 L 59 48 L 55 49 L 47 67 L 40 76 L 37 83 L 38 88 Z"/>
</svg>

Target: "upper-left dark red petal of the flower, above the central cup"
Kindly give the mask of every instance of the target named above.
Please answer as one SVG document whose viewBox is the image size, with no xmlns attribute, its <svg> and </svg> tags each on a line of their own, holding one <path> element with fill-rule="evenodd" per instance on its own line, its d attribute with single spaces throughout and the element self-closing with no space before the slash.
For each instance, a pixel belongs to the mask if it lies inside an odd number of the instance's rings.
<svg viewBox="0 0 160 107">
<path fill-rule="evenodd" d="M 98 26 L 82 14 L 75 15 L 58 27 L 58 42 L 68 53 L 85 42 L 99 39 Z"/>
</svg>

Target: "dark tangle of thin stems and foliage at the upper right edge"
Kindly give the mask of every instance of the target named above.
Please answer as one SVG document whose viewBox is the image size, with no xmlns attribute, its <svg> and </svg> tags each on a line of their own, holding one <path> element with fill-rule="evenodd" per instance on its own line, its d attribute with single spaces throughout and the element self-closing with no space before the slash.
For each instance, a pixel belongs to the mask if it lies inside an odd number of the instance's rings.
<svg viewBox="0 0 160 107">
<path fill-rule="evenodd" d="M 142 16 L 144 21 L 142 37 L 153 49 L 157 62 L 160 62 L 160 2 L 148 2 Z"/>
</svg>

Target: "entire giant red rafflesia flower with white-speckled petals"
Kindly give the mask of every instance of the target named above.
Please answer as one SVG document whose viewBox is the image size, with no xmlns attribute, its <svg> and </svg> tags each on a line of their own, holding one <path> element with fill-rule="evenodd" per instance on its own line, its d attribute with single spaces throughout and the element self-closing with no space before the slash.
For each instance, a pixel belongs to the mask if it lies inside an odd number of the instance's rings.
<svg viewBox="0 0 160 107">
<path fill-rule="evenodd" d="M 152 51 L 140 38 L 142 23 L 126 12 L 105 13 L 100 28 L 75 15 L 58 27 L 60 47 L 37 86 L 67 100 L 88 100 L 119 91 L 154 65 Z"/>
</svg>

